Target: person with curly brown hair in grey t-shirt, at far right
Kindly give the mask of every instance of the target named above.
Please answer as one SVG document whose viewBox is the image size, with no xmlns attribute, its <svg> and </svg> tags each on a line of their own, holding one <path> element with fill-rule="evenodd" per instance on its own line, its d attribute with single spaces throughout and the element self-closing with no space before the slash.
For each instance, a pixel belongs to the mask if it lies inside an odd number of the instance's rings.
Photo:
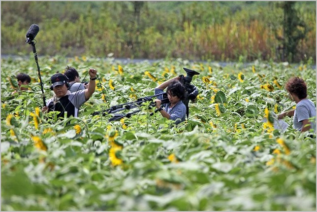
<svg viewBox="0 0 317 212">
<path fill-rule="evenodd" d="M 278 114 L 278 119 L 293 116 L 294 129 L 300 132 L 314 130 L 316 133 L 316 106 L 307 98 L 305 81 L 299 77 L 292 77 L 286 82 L 285 89 L 288 92 L 288 97 L 295 101 L 296 108 Z"/>
</svg>

